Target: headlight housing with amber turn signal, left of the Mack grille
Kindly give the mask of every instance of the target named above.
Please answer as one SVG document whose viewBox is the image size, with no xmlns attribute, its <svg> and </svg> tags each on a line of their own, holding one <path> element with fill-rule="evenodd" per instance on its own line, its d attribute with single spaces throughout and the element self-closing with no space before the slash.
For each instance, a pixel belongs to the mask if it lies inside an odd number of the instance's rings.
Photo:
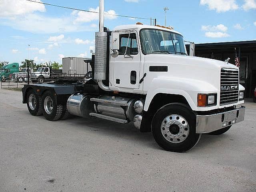
<svg viewBox="0 0 256 192">
<path fill-rule="evenodd" d="M 209 107 L 217 105 L 217 93 L 211 94 L 198 94 L 197 106 L 198 107 Z"/>
</svg>

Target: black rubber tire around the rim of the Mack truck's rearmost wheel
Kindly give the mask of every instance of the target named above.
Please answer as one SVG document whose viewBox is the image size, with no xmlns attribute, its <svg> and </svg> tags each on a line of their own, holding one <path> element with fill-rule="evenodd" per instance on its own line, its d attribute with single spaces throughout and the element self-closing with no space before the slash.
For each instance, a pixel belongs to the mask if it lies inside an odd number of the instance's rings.
<svg viewBox="0 0 256 192">
<path fill-rule="evenodd" d="M 29 103 L 29 98 L 30 95 L 34 95 L 34 99 L 36 100 L 36 104 L 34 108 L 31 108 L 30 103 Z M 31 115 L 33 116 L 40 116 L 43 114 L 42 112 L 42 98 L 41 96 L 36 95 L 36 92 L 34 90 L 29 90 L 27 93 L 27 107 L 28 107 L 28 111 L 30 112 Z"/>
</svg>

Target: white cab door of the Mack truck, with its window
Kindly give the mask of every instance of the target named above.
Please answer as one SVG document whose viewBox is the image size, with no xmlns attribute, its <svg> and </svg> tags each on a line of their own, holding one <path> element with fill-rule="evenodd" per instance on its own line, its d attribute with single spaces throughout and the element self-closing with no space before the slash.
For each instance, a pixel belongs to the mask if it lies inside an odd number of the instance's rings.
<svg viewBox="0 0 256 192">
<path fill-rule="evenodd" d="M 113 84 L 116 87 L 139 88 L 140 52 L 134 31 L 120 33 L 119 55 L 114 58 Z"/>
</svg>

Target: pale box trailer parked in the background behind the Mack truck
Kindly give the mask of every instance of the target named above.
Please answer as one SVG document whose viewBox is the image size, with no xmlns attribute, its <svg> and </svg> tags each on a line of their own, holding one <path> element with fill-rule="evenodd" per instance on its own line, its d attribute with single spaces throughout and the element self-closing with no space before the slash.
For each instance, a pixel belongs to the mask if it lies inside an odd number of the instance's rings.
<svg viewBox="0 0 256 192">
<path fill-rule="evenodd" d="M 66 57 L 62 58 L 63 74 L 86 74 L 92 70 L 90 63 L 86 62 L 90 58 Z"/>
</svg>

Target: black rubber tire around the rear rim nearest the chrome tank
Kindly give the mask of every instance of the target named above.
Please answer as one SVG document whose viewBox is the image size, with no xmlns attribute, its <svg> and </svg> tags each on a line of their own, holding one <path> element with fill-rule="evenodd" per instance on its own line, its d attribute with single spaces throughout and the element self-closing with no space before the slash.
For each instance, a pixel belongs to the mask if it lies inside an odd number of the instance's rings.
<svg viewBox="0 0 256 192">
<path fill-rule="evenodd" d="M 52 111 L 49 112 L 46 110 L 45 100 L 46 98 L 50 98 L 52 100 Z M 42 106 L 43 106 L 43 114 L 44 117 L 49 121 L 59 120 L 62 116 L 63 106 L 57 105 L 53 92 L 46 91 L 42 96 Z M 46 112 L 47 111 L 47 112 Z"/>
</svg>

